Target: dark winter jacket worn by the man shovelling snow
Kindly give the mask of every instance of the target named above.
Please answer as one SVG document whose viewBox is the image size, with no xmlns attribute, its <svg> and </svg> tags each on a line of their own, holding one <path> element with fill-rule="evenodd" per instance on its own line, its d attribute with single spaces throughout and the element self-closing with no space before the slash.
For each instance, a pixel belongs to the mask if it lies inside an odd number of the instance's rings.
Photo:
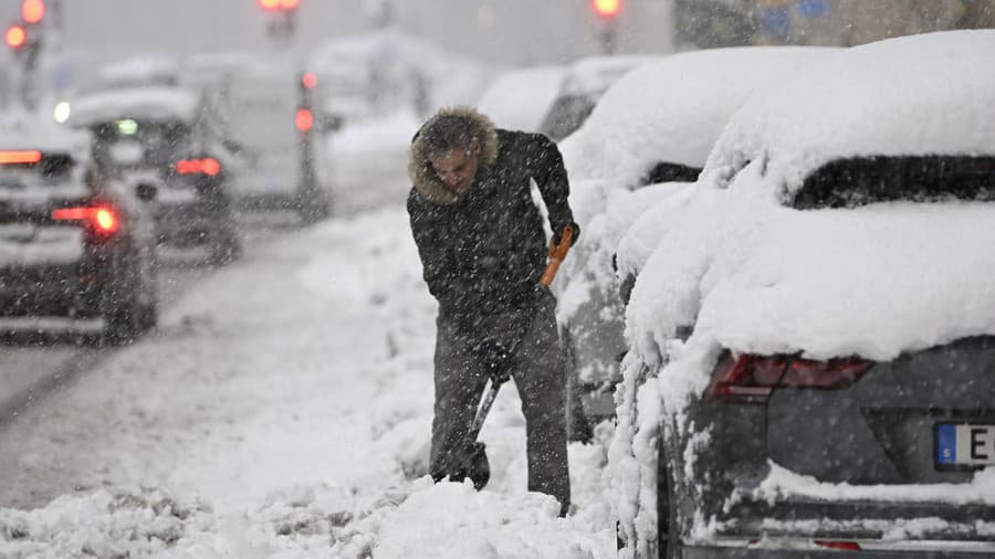
<svg viewBox="0 0 995 559">
<path fill-rule="evenodd" d="M 465 116 L 482 154 L 473 184 L 458 196 L 434 172 L 418 137 L 411 145 L 408 213 L 429 291 L 443 314 L 531 308 L 540 296 L 547 259 L 531 179 L 546 203 L 553 230 L 573 222 L 559 150 L 538 134 L 495 129 L 471 108 L 441 114 Z"/>
</svg>

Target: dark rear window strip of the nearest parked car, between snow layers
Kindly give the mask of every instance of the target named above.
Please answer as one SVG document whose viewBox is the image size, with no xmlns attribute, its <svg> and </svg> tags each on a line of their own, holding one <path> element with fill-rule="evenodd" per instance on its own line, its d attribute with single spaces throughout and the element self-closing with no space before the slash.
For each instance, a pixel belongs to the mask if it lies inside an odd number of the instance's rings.
<svg viewBox="0 0 995 559">
<path fill-rule="evenodd" d="M 839 159 L 809 175 L 790 205 L 799 210 L 852 208 L 898 200 L 995 201 L 995 157 Z"/>
</svg>

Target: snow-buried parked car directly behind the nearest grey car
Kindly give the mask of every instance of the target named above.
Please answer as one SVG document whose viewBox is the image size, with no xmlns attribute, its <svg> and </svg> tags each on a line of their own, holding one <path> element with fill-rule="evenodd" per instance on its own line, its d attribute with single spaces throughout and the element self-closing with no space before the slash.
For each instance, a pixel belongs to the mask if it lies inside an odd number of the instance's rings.
<svg viewBox="0 0 995 559">
<path fill-rule="evenodd" d="M 615 414 L 619 362 L 628 350 L 616 276 L 622 234 L 654 204 L 680 208 L 722 127 L 754 92 L 832 52 L 716 49 L 645 63 L 612 85 L 587 123 L 562 141 L 570 205 L 583 232 L 557 285 L 572 382 L 579 389 L 570 392 L 572 409 L 580 394 L 590 420 Z M 674 221 L 653 217 L 659 226 Z"/>
</svg>

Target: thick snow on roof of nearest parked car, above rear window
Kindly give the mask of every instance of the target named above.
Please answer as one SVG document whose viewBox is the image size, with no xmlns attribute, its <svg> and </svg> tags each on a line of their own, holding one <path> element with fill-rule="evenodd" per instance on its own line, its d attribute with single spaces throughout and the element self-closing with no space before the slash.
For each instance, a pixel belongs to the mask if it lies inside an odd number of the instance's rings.
<svg viewBox="0 0 995 559">
<path fill-rule="evenodd" d="M 853 157 L 995 154 L 995 31 L 949 31 L 840 51 L 746 104 L 705 172 L 764 158 L 765 182 L 796 193 L 825 164 Z"/>
</svg>

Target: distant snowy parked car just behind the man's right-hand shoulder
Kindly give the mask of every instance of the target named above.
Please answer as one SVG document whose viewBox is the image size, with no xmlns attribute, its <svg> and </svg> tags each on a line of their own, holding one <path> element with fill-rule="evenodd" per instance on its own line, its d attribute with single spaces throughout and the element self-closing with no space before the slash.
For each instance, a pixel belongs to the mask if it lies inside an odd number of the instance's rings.
<svg viewBox="0 0 995 559">
<path fill-rule="evenodd" d="M 608 87 L 627 72 L 659 54 L 617 54 L 588 56 L 567 66 L 553 105 L 540 125 L 540 133 L 559 141 L 587 120 Z"/>
</svg>

